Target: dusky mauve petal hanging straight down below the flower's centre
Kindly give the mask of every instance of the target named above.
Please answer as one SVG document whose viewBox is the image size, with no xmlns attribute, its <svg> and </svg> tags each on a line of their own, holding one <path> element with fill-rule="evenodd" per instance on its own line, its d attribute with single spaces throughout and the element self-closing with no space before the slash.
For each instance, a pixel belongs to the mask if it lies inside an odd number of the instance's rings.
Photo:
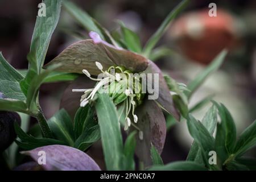
<svg viewBox="0 0 256 182">
<path fill-rule="evenodd" d="M 150 148 L 151 143 L 161 154 L 164 141 L 166 139 L 166 120 L 163 111 L 153 100 L 145 100 L 142 105 L 135 110 L 138 115 L 138 122 L 135 124 L 143 132 L 143 139 L 137 135 L 136 154 L 144 165 L 151 165 Z"/>
</svg>

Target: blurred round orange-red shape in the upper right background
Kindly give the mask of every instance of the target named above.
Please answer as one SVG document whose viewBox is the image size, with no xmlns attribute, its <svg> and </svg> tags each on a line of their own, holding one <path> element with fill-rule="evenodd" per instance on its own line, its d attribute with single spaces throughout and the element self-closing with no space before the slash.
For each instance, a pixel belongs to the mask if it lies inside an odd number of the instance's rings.
<svg viewBox="0 0 256 182">
<path fill-rule="evenodd" d="M 177 19 L 169 35 L 189 59 L 208 64 L 224 48 L 238 43 L 238 20 L 224 10 L 209 16 L 208 9 L 193 11 Z"/>
</svg>

